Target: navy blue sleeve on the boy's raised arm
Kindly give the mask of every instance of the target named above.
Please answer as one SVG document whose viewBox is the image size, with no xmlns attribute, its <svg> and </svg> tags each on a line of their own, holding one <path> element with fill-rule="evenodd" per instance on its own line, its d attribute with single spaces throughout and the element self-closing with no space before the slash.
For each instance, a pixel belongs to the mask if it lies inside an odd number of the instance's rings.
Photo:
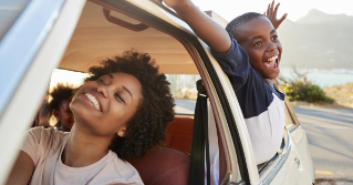
<svg viewBox="0 0 353 185">
<path fill-rule="evenodd" d="M 226 53 L 212 52 L 224 72 L 228 75 L 235 91 L 239 90 L 248 80 L 250 70 L 247 51 L 229 34 L 231 45 Z"/>
</svg>

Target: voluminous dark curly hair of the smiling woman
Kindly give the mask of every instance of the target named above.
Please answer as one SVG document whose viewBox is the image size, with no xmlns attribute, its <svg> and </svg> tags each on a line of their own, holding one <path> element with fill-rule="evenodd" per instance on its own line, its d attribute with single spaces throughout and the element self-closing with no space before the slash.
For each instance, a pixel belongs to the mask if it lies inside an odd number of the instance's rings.
<svg viewBox="0 0 353 185">
<path fill-rule="evenodd" d="M 120 158 L 142 157 L 146 151 L 165 141 L 165 131 L 174 120 L 174 99 L 169 90 L 169 82 L 158 72 L 158 66 L 147 53 L 125 51 L 122 56 L 107 59 L 100 66 L 89 70 L 94 81 L 108 73 L 123 72 L 135 76 L 142 85 L 143 100 L 135 115 L 127 122 L 125 136 L 116 135 L 112 140 L 110 150 Z"/>
</svg>

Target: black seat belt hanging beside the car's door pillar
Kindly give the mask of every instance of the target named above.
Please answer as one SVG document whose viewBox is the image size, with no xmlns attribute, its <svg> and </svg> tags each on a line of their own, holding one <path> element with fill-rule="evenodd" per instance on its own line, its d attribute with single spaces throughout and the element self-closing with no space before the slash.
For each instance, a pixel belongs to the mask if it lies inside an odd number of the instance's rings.
<svg viewBox="0 0 353 185">
<path fill-rule="evenodd" d="M 210 161 L 208 141 L 207 93 L 201 80 L 196 82 L 197 101 L 194 115 L 193 143 L 190 152 L 189 185 L 205 185 L 205 155 L 207 185 L 210 184 Z"/>
</svg>

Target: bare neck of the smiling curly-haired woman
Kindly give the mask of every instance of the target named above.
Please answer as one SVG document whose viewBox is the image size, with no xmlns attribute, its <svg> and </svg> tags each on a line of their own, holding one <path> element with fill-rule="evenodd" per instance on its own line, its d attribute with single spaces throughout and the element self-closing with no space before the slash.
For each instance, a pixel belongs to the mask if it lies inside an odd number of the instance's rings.
<svg viewBox="0 0 353 185">
<path fill-rule="evenodd" d="M 75 125 L 72 127 L 61 154 L 63 164 L 71 167 L 84 167 L 100 161 L 107 154 L 111 143 L 111 138 L 93 136 L 79 130 Z"/>
</svg>

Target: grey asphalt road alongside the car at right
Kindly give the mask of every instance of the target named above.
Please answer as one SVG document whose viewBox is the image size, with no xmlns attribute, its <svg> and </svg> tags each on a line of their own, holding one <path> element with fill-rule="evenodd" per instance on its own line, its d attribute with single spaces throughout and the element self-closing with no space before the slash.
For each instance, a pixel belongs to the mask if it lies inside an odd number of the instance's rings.
<svg viewBox="0 0 353 185">
<path fill-rule="evenodd" d="M 294 112 L 307 132 L 316 178 L 353 184 L 353 110 L 294 107 Z"/>
</svg>

